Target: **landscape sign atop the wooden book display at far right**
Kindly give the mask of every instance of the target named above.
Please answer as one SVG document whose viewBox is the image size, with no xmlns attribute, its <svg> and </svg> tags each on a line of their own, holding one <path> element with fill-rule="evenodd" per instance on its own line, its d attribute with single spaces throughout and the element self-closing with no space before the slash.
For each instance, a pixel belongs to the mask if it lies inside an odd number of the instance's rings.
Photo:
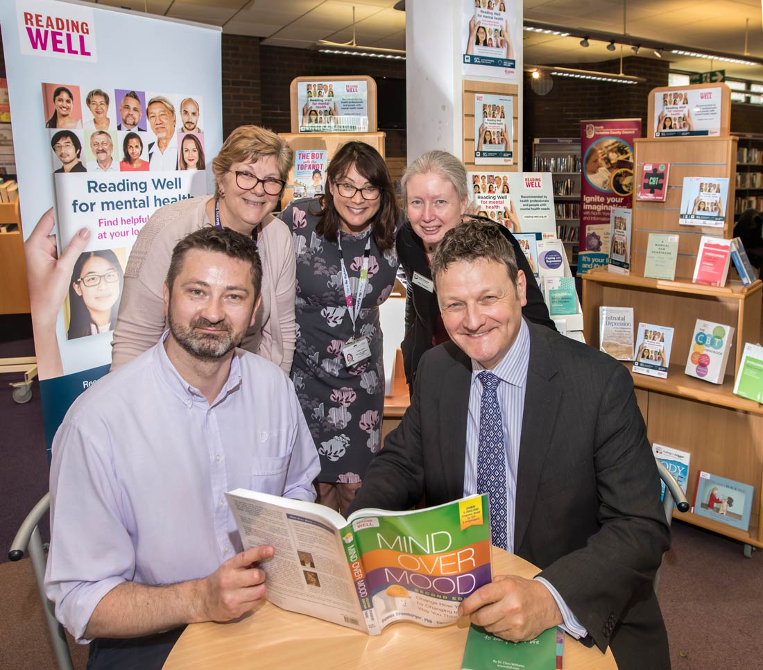
<svg viewBox="0 0 763 670">
<path fill-rule="evenodd" d="M 720 135 L 721 89 L 655 91 L 655 137 Z"/>
</svg>

